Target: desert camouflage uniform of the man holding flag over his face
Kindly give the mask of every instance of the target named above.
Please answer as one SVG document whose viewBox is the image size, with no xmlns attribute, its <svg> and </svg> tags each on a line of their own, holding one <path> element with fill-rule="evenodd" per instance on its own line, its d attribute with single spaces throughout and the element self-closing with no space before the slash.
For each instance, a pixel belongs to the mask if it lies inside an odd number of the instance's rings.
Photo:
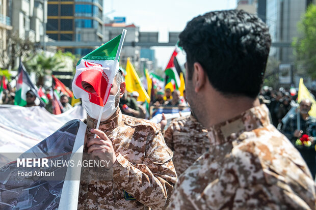
<svg viewBox="0 0 316 210">
<path fill-rule="evenodd" d="M 96 123 L 87 119 L 88 138 Z M 110 181 L 81 178 L 78 209 L 165 208 L 177 177 L 160 127 L 119 112 L 99 129 L 112 141 L 117 161 Z"/>
</svg>

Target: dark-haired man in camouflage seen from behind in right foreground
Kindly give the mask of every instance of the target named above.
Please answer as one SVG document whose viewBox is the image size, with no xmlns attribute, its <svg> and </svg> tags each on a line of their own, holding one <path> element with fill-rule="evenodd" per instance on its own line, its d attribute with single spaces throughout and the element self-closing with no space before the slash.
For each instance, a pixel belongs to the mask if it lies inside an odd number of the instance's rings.
<svg viewBox="0 0 316 210">
<path fill-rule="evenodd" d="M 306 163 L 257 99 L 270 44 L 266 24 L 238 10 L 198 16 L 179 35 L 187 99 L 210 148 L 181 174 L 169 209 L 316 208 Z"/>
</svg>

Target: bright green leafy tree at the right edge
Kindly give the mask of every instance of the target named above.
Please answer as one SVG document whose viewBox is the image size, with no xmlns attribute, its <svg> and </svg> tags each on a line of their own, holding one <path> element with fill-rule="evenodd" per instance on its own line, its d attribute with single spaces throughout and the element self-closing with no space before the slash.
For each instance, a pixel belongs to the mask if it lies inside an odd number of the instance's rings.
<svg viewBox="0 0 316 210">
<path fill-rule="evenodd" d="M 310 4 L 298 25 L 300 36 L 294 38 L 296 68 L 316 79 L 316 5 Z"/>
</svg>

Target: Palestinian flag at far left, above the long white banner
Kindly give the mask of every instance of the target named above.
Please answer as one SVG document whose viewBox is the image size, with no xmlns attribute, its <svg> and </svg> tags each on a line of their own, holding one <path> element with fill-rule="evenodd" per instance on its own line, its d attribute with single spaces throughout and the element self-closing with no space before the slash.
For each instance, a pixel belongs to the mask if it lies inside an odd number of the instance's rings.
<svg viewBox="0 0 316 210">
<path fill-rule="evenodd" d="M 25 70 L 22 62 L 20 61 L 18 69 L 18 79 L 16 82 L 16 92 L 14 98 L 14 104 L 19 106 L 27 105 L 27 92 L 31 89 L 36 97 L 39 99 L 39 105 L 45 107 L 45 103 L 41 100 L 37 93 L 37 87 L 31 82 L 28 72 Z"/>
</svg>

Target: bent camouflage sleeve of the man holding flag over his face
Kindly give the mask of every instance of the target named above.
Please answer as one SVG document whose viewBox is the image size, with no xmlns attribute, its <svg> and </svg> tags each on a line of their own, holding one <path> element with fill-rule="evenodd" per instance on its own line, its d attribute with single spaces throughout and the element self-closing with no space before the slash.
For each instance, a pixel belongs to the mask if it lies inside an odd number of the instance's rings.
<svg viewBox="0 0 316 210">
<path fill-rule="evenodd" d="M 157 128 L 160 130 L 160 128 Z M 177 181 L 172 151 L 161 131 L 149 134 L 142 164 L 132 164 L 121 154 L 113 165 L 113 179 L 136 200 L 153 209 L 164 209 Z"/>
</svg>

